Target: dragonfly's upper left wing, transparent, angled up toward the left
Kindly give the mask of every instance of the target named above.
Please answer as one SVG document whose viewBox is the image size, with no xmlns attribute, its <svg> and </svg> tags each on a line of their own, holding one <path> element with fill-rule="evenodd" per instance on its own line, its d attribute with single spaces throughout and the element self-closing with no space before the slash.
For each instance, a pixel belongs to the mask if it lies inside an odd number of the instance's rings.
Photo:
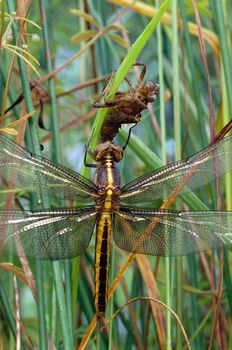
<svg viewBox="0 0 232 350">
<path fill-rule="evenodd" d="M 93 203 L 96 186 L 66 167 L 39 157 L 0 135 L 0 184 L 38 195 L 46 193 L 58 199 Z"/>
</svg>

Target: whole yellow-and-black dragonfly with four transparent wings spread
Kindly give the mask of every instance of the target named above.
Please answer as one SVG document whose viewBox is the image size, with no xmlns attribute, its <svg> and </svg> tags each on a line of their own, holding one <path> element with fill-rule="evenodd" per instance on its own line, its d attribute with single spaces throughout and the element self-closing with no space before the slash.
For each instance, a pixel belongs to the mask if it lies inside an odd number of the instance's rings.
<svg viewBox="0 0 232 350">
<path fill-rule="evenodd" d="M 123 151 L 110 141 L 99 144 L 92 153 L 97 170 L 94 181 L 89 181 L 0 135 L 0 179 L 8 188 L 39 196 L 46 192 L 50 198 L 77 202 L 76 207 L 58 209 L 0 210 L 2 248 L 38 259 L 73 258 L 88 247 L 96 225 L 95 308 L 98 317 L 103 317 L 111 231 L 121 249 L 156 256 L 186 255 L 220 244 L 232 246 L 230 211 L 152 207 L 156 199 L 164 201 L 177 192 L 182 196 L 230 171 L 231 149 L 229 136 L 121 187 L 115 162 L 122 159 Z"/>
</svg>

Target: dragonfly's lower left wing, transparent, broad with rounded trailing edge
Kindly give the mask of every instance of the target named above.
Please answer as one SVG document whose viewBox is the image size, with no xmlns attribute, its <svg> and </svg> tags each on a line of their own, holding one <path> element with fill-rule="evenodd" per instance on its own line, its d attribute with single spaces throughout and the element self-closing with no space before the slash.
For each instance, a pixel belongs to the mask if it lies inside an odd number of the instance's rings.
<svg viewBox="0 0 232 350">
<path fill-rule="evenodd" d="M 89 245 L 95 208 L 0 211 L 2 249 L 21 257 L 69 259 Z"/>
</svg>

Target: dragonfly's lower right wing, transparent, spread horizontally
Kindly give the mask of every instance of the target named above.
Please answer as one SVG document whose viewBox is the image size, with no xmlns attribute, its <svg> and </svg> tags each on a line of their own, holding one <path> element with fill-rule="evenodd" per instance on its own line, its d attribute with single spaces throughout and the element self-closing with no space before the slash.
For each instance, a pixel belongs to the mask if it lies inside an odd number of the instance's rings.
<svg viewBox="0 0 232 350">
<path fill-rule="evenodd" d="M 115 243 L 124 250 L 156 256 L 232 248 L 232 212 L 122 208 L 115 214 Z"/>
</svg>

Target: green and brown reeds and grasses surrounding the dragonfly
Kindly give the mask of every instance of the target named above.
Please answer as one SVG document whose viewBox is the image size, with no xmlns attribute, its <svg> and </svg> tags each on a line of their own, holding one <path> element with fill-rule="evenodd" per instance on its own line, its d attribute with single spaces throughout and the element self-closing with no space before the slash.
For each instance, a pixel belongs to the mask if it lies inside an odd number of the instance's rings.
<svg viewBox="0 0 232 350">
<path fill-rule="evenodd" d="M 159 82 L 161 89 L 133 130 L 119 165 L 122 183 L 207 146 L 231 119 L 231 4 L 147 1 L 125 11 L 129 3 L 40 0 L 16 8 L 10 0 L 1 1 L 0 131 L 17 134 L 20 142 L 26 130 L 27 146 L 34 152 L 41 152 L 43 144 L 43 155 L 89 176 L 82 167 L 85 145 L 93 132 L 91 147 L 96 145 L 106 113 L 100 110 L 95 117 L 91 103 L 113 69 L 120 67 L 110 96 L 128 70 L 136 83 L 138 72 L 130 67 L 137 61 L 147 65 L 145 79 Z M 38 94 L 34 90 L 31 95 L 32 80 L 39 83 Z M 4 116 L 22 91 L 25 103 Z M 41 129 L 39 98 L 47 92 Z M 126 135 L 123 129 L 116 141 L 123 145 Z M 197 194 L 199 200 L 187 202 L 190 209 L 217 208 L 214 189 Z M 221 182 L 221 200 L 223 209 L 232 209 L 231 175 Z M 4 349 L 21 343 L 24 349 L 69 350 L 84 348 L 97 333 L 99 349 L 232 348 L 230 263 L 226 250 L 223 259 L 217 251 L 180 259 L 132 259 L 113 246 L 110 279 L 116 276 L 121 282 L 106 318 L 132 298 L 155 301 L 129 304 L 107 332 L 100 332 L 93 318 L 94 240 L 73 261 L 20 263 L 3 254 L 1 344 Z"/>
</svg>

